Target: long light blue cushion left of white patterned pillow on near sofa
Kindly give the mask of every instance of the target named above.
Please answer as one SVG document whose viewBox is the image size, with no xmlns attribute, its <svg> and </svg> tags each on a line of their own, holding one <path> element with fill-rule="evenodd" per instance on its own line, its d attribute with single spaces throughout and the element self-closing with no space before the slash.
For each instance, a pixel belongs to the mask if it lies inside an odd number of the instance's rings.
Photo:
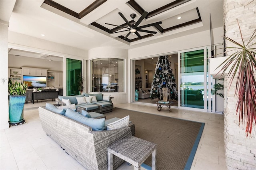
<svg viewBox="0 0 256 170">
<path fill-rule="evenodd" d="M 75 121 L 83 123 L 84 125 L 88 125 L 92 128 L 92 130 L 106 130 L 104 118 L 93 119 L 93 118 L 84 117 L 78 112 L 72 111 L 72 109 L 67 109 L 66 117 L 69 117 L 70 119 L 74 119 Z"/>
</svg>

